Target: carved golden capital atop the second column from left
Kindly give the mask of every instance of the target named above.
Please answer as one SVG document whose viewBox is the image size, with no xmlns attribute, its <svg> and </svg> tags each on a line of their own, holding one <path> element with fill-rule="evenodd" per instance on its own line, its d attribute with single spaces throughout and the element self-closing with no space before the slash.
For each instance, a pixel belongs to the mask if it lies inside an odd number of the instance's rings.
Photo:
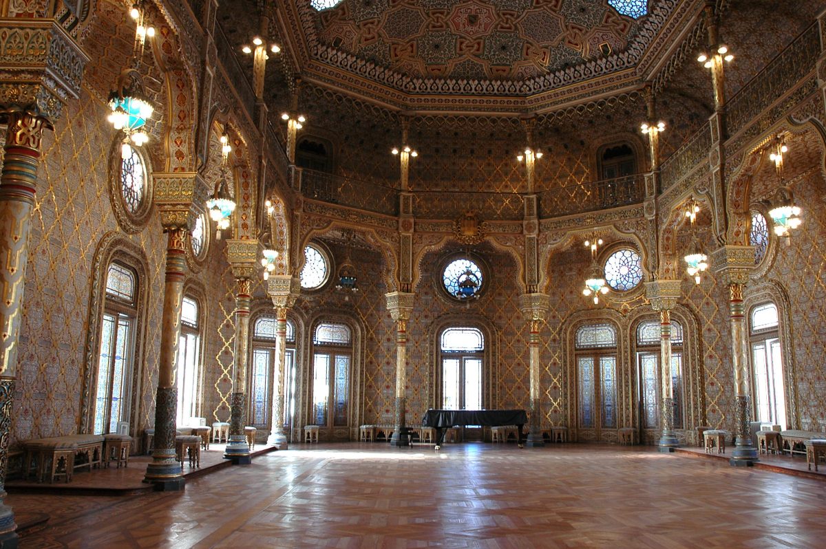
<svg viewBox="0 0 826 549">
<path fill-rule="evenodd" d="M 164 230 L 186 229 L 192 232 L 195 219 L 204 212 L 209 194 L 207 182 L 196 172 L 156 172 L 154 203 L 160 212 Z"/>
</svg>

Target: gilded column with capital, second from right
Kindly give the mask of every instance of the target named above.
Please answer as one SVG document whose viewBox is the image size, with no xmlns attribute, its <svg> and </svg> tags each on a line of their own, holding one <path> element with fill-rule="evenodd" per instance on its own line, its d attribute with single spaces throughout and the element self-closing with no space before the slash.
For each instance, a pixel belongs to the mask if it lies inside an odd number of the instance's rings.
<svg viewBox="0 0 826 549">
<path fill-rule="evenodd" d="M 672 383 L 671 310 L 680 297 L 679 280 L 657 280 L 645 283 L 645 294 L 653 310 L 660 313 L 660 452 L 674 452 L 680 441 L 674 433 L 674 385 Z"/>
</svg>

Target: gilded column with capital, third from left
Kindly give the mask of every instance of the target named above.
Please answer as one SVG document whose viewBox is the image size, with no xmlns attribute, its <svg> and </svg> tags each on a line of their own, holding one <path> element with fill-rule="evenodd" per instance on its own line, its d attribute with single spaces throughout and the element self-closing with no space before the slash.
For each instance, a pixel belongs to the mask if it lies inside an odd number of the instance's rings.
<svg viewBox="0 0 826 549">
<path fill-rule="evenodd" d="M 230 395 L 230 437 L 224 450 L 225 459 L 236 465 L 249 465 L 252 456 L 244 433 L 246 424 L 247 362 L 249 361 L 249 300 L 255 276 L 259 243 L 256 239 L 230 239 L 226 256 L 232 267 L 235 292 L 235 347 L 233 349 L 232 395 Z"/>
</svg>

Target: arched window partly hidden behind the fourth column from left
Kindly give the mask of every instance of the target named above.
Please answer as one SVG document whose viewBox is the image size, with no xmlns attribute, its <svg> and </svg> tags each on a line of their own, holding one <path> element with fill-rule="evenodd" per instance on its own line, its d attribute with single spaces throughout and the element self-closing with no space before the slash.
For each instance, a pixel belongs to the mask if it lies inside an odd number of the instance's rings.
<svg viewBox="0 0 826 549">
<path fill-rule="evenodd" d="M 253 364 L 249 376 L 249 421 L 254 427 L 271 424 L 271 376 L 278 364 L 278 319 L 259 316 L 253 324 Z M 296 328 L 287 320 L 287 342 L 284 349 L 284 424 L 292 426 L 296 409 Z"/>
</svg>

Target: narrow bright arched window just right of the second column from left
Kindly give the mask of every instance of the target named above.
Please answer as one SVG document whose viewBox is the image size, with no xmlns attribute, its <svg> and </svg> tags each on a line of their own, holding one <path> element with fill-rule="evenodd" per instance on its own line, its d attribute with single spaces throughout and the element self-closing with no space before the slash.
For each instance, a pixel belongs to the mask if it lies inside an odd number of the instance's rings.
<svg viewBox="0 0 826 549">
<path fill-rule="evenodd" d="M 201 395 L 201 325 L 198 304 L 190 296 L 181 301 L 181 335 L 178 338 L 178 425 L 197 417 Z"/>
</svg>

